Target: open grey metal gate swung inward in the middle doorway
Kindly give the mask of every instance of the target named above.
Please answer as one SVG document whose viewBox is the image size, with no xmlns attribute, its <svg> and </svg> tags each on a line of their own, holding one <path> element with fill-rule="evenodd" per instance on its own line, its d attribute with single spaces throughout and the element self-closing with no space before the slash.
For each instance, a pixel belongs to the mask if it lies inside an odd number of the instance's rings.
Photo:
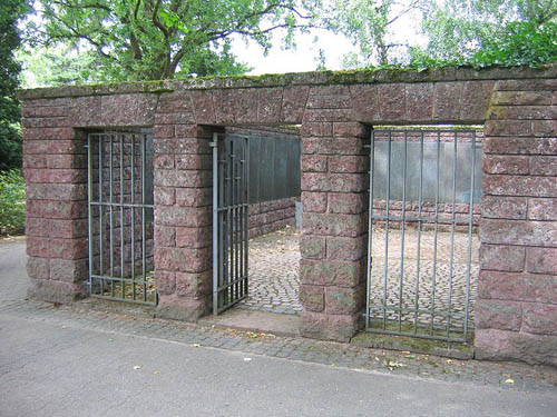
<svg viewBox="0 0 557 417">
<path fill-rule="evenodd" d="M 247 297 L 250 147 L 241 136 L 213 137 L 213 312 Z"/>
</svg>

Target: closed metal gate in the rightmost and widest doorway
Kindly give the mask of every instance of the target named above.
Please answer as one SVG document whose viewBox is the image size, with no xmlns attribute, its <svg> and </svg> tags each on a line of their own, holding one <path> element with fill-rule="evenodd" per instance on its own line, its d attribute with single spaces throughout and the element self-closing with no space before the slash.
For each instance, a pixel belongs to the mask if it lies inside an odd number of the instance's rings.
<svg viewBox="0 0 557 417">
<path fill-rule="evenodd" d="M 369 331 L 469 340 L 479 270 L 478 159 L 473 130 L 372 131 Z"/>
</svg>

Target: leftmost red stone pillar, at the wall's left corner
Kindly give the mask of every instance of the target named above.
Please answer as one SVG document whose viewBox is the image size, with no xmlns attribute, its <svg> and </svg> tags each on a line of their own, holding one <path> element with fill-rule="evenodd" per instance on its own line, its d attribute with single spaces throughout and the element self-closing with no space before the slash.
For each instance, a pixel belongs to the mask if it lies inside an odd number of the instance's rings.
<svg viewBox="0 0 557 417">
<path fill-rule="evenodd" d="M 87 294 L 86 136 L 71 128 L 67 98 L 27 100 L 22 116 L 28 294 L 71 301 Z"/>
</svg>

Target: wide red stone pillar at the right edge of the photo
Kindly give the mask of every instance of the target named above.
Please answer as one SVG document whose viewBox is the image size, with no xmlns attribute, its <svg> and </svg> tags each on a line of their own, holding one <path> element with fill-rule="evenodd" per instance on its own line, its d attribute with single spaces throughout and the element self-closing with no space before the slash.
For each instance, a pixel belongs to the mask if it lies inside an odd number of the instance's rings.
<svg viewBox="0 0 557 417">
<path fill-rule="evenodd" d="M 557 82 L 498 81 L 486 122 L 478 358 L 557 365 Z"/>
</svg>

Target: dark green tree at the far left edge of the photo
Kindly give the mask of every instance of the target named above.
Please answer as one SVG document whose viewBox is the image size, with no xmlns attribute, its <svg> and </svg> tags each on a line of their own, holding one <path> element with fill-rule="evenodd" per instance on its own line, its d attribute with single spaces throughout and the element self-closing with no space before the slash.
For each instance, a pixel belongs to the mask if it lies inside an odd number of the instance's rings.
<svg viewBox="0 0 557 417">
<path fill-rule="evenodd" d="M 20 44 L 17 22 L 25 11 L 23 0 L 0 3 L 0 169 L 21 166 L 20 109 L 16 98 L 21 68 L 13 53 Z"/>
</svg>

